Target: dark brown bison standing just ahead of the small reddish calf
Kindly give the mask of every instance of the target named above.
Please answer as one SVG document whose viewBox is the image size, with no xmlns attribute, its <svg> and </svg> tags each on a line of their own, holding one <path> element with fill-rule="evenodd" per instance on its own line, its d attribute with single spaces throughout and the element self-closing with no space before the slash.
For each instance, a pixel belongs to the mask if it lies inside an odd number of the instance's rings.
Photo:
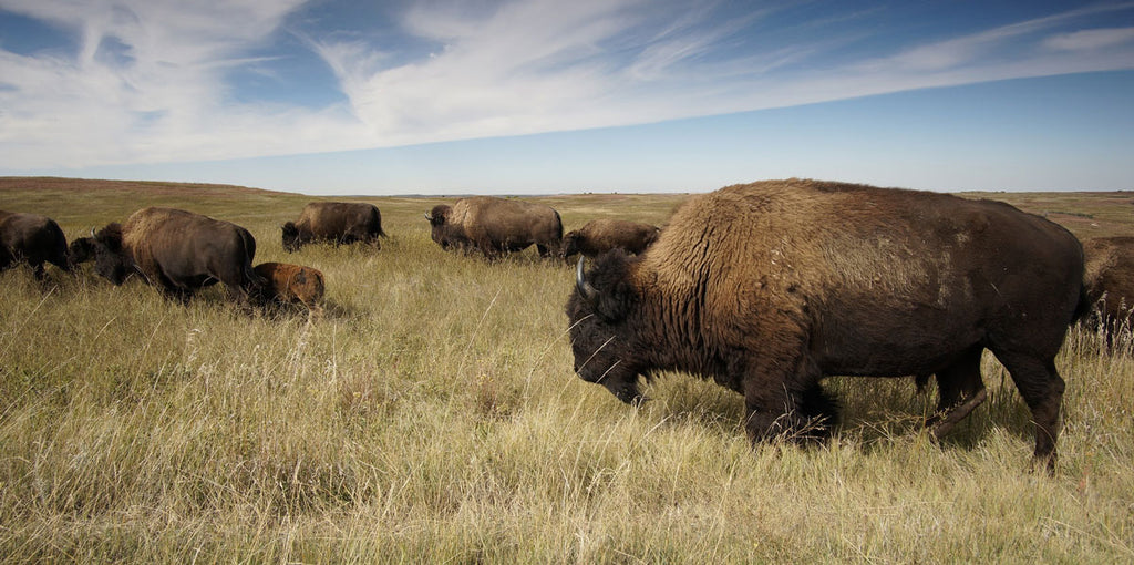
<svg viewBox="0 0 1134 565">
<path fill-rule="evenodd" d="M 138 272 L 183 303 L 220 281 L 231 301 L 247 307 L 263 286 L 252 270 L 256 241 L 247 229 L 184 210 L 138 210 L 78 246 L 93 248 L 95 271 L 115 285 Z"/>
</svg>

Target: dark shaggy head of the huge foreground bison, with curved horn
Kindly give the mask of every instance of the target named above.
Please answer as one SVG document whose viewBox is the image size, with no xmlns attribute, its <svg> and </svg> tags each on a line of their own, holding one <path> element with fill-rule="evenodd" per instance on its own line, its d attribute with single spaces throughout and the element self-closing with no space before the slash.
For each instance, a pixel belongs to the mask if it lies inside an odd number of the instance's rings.
<svg viewBox="0 0 1134 565">
<path fill-rule="evenodd" d="M 629 281 L 629 260 L 621 251 L 606 253 L 594 268 L 583 272 L 579 258 L 575 292 L 567 300 L 575 372 L 587 382 L 598 382 L 627 404 L 642 402 L 638 376 L 646 366 L 638 361 L 635 322 L 632 315 L 637 293 Z"/>
</svg>

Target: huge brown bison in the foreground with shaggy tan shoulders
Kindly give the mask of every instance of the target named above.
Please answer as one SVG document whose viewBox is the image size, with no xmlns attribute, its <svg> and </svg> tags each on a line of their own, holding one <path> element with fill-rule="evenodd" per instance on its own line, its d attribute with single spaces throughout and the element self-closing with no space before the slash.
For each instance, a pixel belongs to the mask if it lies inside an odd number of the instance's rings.
<svg viewBox="0 0 1134 565">
<path fill-rule="evenodd" d="M 678 370 L 744 395 L 750 438 L 822 437 L 827 376 L 936 373 L 943 433 L 983 398 L 981 352 L 1012 373 L 1053 469 L 1083 251 L 1000 202 L 815 180 L 691 199 L 658 242 L 583 272 L 566 312 L 575 371 L 626 403 Z"/>
</svg>

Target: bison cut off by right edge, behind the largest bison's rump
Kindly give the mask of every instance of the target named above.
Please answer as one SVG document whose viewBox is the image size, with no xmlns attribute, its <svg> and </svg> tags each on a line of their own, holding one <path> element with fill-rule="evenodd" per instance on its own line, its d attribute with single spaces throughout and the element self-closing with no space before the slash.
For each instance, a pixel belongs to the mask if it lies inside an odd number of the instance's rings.
<svg viewBox="0 0 1134 565">
<path fill-rule="evenodd" d="M 1101 329 L 1107 348 L 1115 336 L 1134 330 L 1134 237 L 1097 237 L 1083 242 L 1086 298 L 1095 312 L 1089 318 Z"/>
</svg>

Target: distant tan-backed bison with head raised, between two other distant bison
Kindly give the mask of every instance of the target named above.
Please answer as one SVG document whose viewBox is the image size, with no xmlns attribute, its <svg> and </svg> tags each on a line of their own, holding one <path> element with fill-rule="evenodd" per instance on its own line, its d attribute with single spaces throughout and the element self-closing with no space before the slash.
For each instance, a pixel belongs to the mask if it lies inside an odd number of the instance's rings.
<svg viewBox="0 0 1134 565">
<path fill-rule="evenodd" d="M 558 255 L 564 225 L 559 212 L 543 204 L 494 196 L 460 199 L 438 204 L 425 214 L 432 237 L 442 248 L 477 248 L 496 259 L 535 244 L 540 256 Z"/>
</svg>

